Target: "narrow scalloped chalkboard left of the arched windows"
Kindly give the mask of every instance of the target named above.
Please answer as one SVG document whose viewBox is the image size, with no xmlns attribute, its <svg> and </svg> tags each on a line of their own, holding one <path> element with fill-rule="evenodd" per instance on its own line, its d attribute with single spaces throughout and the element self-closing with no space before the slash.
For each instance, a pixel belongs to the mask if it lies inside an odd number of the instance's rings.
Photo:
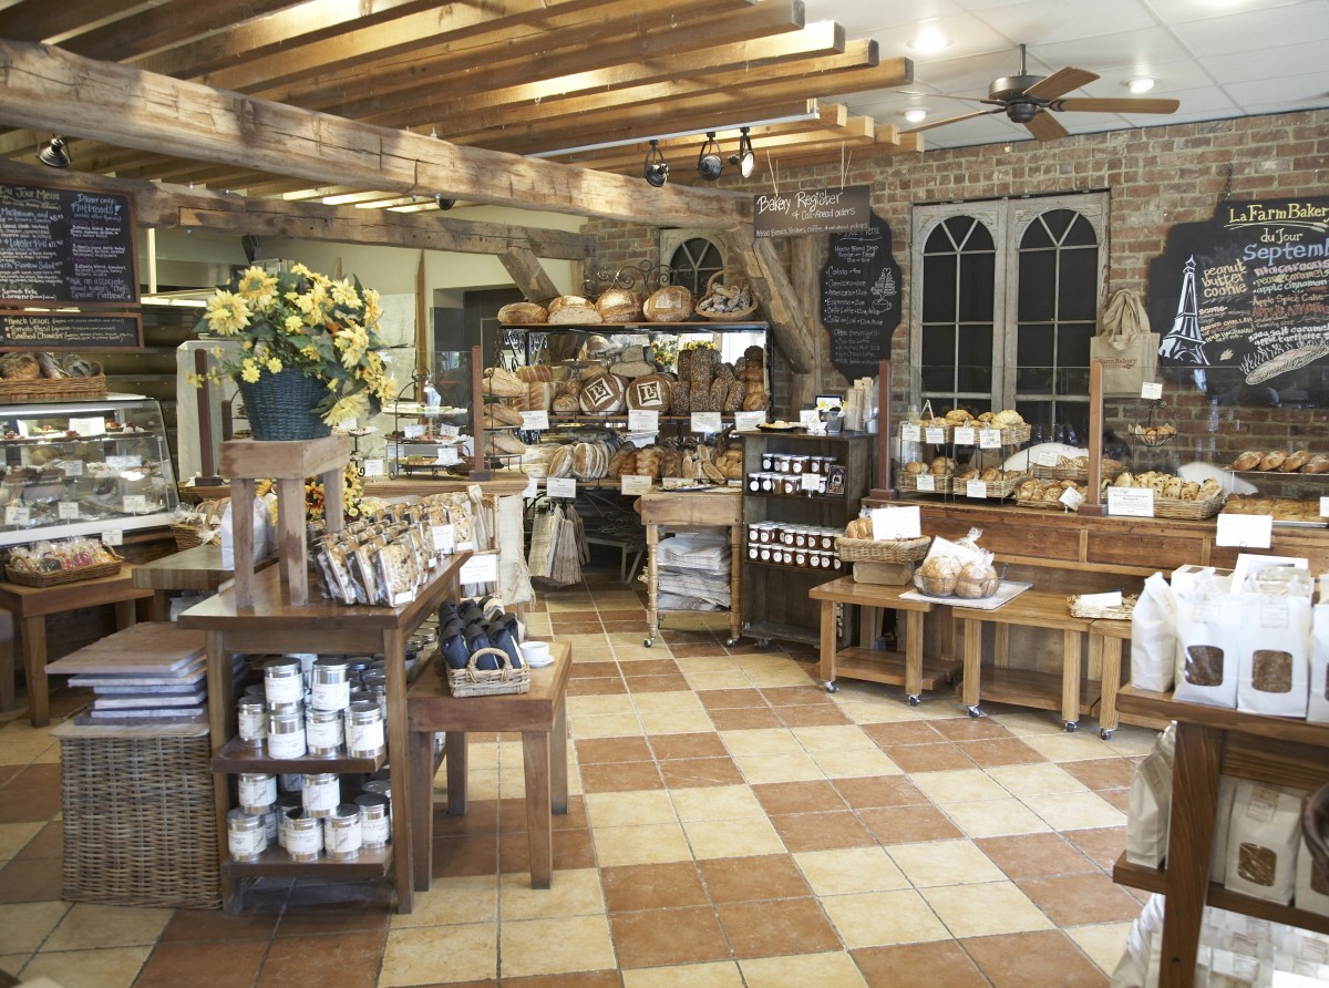
<svg viewBox="0 0 1329 988">
<path fill-rule="evenodd" d="M 821 269 L 821 324 L 831 334 L 831 363 L 845 378 L 868 378 L 890 356 L 900 324 L 900 265 L 890 254 L 890 226 L 876 213 L 864 233 L 831 237 Z"/>
</svg>

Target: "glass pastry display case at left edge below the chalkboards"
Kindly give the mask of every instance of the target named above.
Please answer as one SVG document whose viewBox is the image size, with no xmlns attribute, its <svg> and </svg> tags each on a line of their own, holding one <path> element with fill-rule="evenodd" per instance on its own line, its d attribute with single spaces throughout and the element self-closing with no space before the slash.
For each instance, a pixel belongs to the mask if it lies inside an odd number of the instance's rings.
<svg viewBox="0 0 1329 988">
<path fill-rule="evenodd" d="M 0 545 L 171 523 L 175 475 L 154 399 L 0 406 Z"/>
</svg>

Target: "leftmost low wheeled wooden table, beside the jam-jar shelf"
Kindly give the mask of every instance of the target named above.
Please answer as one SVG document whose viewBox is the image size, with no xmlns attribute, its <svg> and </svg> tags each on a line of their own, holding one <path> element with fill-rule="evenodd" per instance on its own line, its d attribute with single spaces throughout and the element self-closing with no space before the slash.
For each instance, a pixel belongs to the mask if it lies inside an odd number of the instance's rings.
<svg viewBox="0 0 1329 988">
<path fill-rule="evenodd" d="M 924 656 L 924 616 L 941 609 L 946 622 L 944 638 L 949 638 L 950 620 L 945 614 L 946 605 L 932 601 L 902 600 L 901 593 L 909 586 L 880 586 L 877 584 L 859 584 L 852 576 L 843 576 L 839 580 L 813 586 L 808 596 L 821 601 L 821 679 L 827 690 L 835 693 L 836 677 L 847 679 L 867 679 L 869 682 L 885 682 L 892 686 L 904 686 L 905 697 L 910 706 L 918 703 L 924 690 L 937 689 L 942 683 L 949 683 L 960 664 L 949 657 Z M 876 621 L 867 618 L 860 622 L 860 646 L 839 649 L 836 642 L 836 604 L 855 604 L 867 610 L 894 610 L 904 613 L 905 650 L 882 652 L 868 648 L 868 628 L 874 628 Z M 944 656 L 952 653 L 950 648 L 942 648 Z"/>
</svg>

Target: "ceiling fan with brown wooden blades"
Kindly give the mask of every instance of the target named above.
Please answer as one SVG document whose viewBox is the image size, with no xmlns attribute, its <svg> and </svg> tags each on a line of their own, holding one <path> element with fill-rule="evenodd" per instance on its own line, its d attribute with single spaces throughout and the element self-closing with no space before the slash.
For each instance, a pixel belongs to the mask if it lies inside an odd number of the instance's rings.
<svg viewBox="0 0 1329 988">
<path fill-rule="evenodd" d="M 1061 125 L 1053 113 L 1062 110 L 1083 110 L 1090 113 L 1176 113 L 1181 104 L 1177 100 L 1135 100 L 1135 98 L 1082 98 L 1063 100 L 1063 94 L 1073 89 L 1079 89 L 1099 78 L 1092 72 L 1084 69 L 1065 68 L 1058 69 L 1051 76 L 1030 76 L 1025 68 L 1025 45 L 1019 47 L 1019 74 L 994 78 L 987 86 L 987 98 L 979 97 L 950 97 L 958 100 L 975 100 L 977 102 L 991 104 L 995 109 L 975 110 L 962 113 L 958 117 L 946 117 L 928 124 L 902 130 L 905 134 L 916 134 L 920 130 L 932 130 L 937 126 L 946 126 L 961 120 L 986 117 L 993 113 L 1005 113 L 1013 124 L 1023 124 L 1039 141 L 1053 141 L 1058 137 L 1067 137 L 1070 132 Z"/>
</svg>

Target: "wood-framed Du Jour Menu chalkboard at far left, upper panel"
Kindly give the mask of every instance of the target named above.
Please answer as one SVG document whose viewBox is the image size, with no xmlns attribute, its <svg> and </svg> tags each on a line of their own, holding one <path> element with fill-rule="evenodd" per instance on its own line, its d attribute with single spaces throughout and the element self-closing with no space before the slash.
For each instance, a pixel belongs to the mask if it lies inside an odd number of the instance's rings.
<svg viewBox="0 0 1329 988">
<path fill-rule="evenodd" d="M 0 301 L 136 305 L 128 195 L 0 184 Z"/>
</svg>

